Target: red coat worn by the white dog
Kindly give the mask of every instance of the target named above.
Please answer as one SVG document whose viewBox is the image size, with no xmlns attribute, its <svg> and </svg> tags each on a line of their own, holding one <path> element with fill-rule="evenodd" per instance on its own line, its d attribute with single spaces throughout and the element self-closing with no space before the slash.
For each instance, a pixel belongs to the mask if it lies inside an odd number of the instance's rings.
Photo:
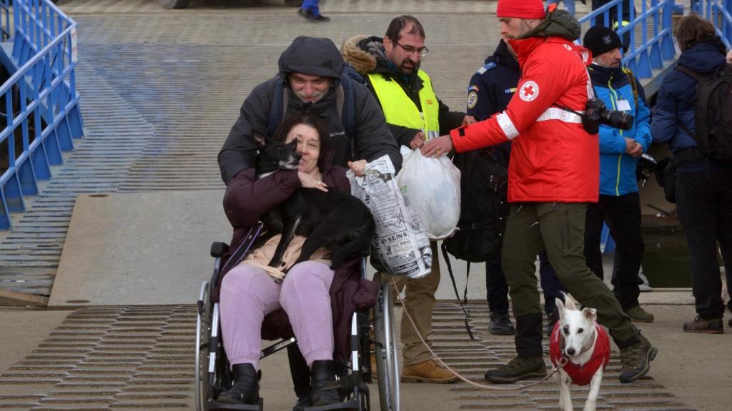
<svg viewBox="0 0 732 411">
<path fill-rule="evenodd" d="M 602 366 L 602 370 L 604 371 L 610 362 L 610 339 L 608 338 L 608 333 L 600 325 L 595 325 L 595 331 L 597 332 L 597 339 L 595 340 L 595 346 L 590 360 L 582 366 L 567 361 L 564 367 L 562 367 L 564 372 L 572 378 L 572 383 L 574 384 L 588 385 L 594 373 L 597 372 L 597 369 L 600 369 L 600 366 Z M 549 357 L 554 366 L 561 361 L 563 355 L 561 345 L 559 321 L 557 321 L 554 324 L 554 329 L 551 331 L 549 341 Z"/>
</svg>

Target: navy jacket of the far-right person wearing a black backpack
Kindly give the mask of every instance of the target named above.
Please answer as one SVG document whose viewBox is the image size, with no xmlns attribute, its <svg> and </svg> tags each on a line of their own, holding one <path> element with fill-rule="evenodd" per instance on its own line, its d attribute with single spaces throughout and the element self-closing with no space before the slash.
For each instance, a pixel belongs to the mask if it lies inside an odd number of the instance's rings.
<svg viewBox="0 0 732 411">
<path fill-rule="evenodd" d="M 725 46 L 717 36 L 697 43 L 679 56 L 680 66 L 701 74 L 712 73 L 722 64 L 725 64 Z M 692 104 L 696 83 L 697 81 L 688 75 L 673 70 L 663 79 L 658 90 L 656 106 L 653 110 L 651 135 L 655 142 L 671 146 L 671 151 L 674 153 L 697 146 L 696 141 L 679 127 L 679 122 L 681 122 L 692 133 L 696 132 L 694 105 Z M 711 160 L 709 162 L 709 167 L 712 169 L 722 166 Z M 703 170 L 701 158 L 700 162 L 679 167 L 679 171 L 701 170 Z"/>
</svg>

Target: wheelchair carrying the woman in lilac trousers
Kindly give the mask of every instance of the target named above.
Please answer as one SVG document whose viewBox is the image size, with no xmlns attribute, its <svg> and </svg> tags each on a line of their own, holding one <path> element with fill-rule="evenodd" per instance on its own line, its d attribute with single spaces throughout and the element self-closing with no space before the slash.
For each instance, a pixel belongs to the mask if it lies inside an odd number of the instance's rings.
<svg viewBox="0 0 732 411">
<path fill-rule="evenodd" d="M 250 247 L 261 232 L 261 224 L 253 227 L 242 242 L 242 247 Z M 247 246 L 248 244 L 248 246 Z M 230 260 L 243 260 L 248 252 L 241 252 L 242 247 L 233 253 Z M 225 243 L 214 242 L 211 256 L 214 258 L 214 269 L 211 279 L 201 284 L 198 298 L 198 314 L 195 329 L 195 410 L 196 411 L 261 411 L 264 399 L 259 404 L 219 404 L 216 399 L 223 391 L 231 388 L 233 375 L 226 358 L 223 339 L 220 336 L 219 304 L 212 303 L 211 295 L 219 283 L 219 275 L 225 267 L 222 259 L 229 252 Z M 241 254 L 239 254 L 241 252 Z M 366 274 L 366 258 L 360 262 L 361 276 Z M 351 320 L 351 358 L 343 364 L 343 375 L 340 375 L 340 388 L 345 401 L 321 407 L 309 407 L 308 411 L 357 410 L 371 409 L 369 388 L 372 382 L 370 355 L 376 355 L 376 372 L 378 376 L 378 396 L 381 410 L 398 411 L 399 406 L 399 366 L 395 344 L 393 323 L 393 299 L 389 283 L 381 276 L 376 276 L 379 284 L 378 300 L 373 307 L 373 327 L 369 322 L 369 311 L 354 312 Z M 371 332 L 373 331 L 373 333 Z M 283 350 L 294 344 L 294 337 L 282 339 L 261 351 L 260 358 Z"/>
</svg>

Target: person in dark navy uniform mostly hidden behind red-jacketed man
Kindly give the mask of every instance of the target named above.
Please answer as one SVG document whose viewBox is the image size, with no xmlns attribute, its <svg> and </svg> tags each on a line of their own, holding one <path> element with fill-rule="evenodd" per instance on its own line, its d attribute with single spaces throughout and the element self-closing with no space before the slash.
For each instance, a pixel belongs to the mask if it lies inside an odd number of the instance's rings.
<svg viewBox="0 0 732 411">
<path fill-rule="evenodd" d="M 501 40 L 493 56 L 485 59 L 485 65 L 478 69 L 470 79 L 468 86 L 468 115 L 483 121 L 493 114 L 506 110 L 508 102 L 516 91 L 521 70 L 518 67 L 515 53 Z M 503 148 L 496 149 L 496 148 Z M 498 162 L 508 168 L 509 159 L 506 156 L 511 152 L 511 143 L 503 143 L 495 148 L 491 147 Z M 458 154 L 459 155 L 459 154 Z M 506 201 L 506 189 L 502 193 Z M 506 216 L 504 216 L 505 218 Z M 539 253 L 539 276 L 544 291 L 544 311 L 547 314 L 547 335 L 559 319 L 554 298 L 562 298 L 564 287 L 556 278 L 554 269 L 549 264 L 546 252 Z M 493 335 L 513 335 L 514 327 L 508 315 L 508 285 L 501 268 L 501 256 L 485 262 L 485 288 L 488 291 L 488 310 L 490 312 L 488 332 Z"/>
</svg>

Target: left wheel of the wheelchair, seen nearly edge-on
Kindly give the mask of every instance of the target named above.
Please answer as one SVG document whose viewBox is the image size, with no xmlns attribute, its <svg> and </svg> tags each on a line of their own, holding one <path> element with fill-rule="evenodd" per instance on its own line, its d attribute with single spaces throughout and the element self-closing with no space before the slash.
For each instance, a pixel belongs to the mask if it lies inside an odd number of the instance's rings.
<svg viewBox="0 0 732 411">
<path fill-rule="evenodd" d="M 195 410 L 205 411 L 209 399 L 209 333 L 211 332 L 211 301 L 209 282 L 201 284 L 198 315 L 195 320 Z"/>
</svg>

